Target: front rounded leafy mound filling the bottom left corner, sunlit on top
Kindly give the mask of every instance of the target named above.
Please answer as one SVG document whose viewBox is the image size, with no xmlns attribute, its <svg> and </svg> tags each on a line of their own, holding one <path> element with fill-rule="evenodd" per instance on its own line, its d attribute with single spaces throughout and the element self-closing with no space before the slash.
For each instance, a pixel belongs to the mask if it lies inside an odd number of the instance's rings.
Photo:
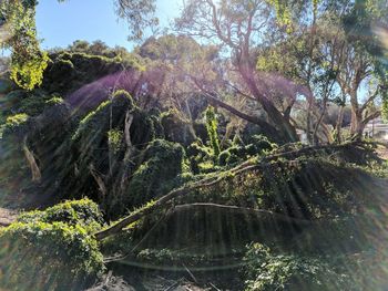
<svg viewBox="0 0 388 291">
<path fill-rule="evenodd" d="M 80 225 L 14 222 L 0 230 L 0 285 L 79 290 L 104 269 L 96 241 Z"/>
</svg>

